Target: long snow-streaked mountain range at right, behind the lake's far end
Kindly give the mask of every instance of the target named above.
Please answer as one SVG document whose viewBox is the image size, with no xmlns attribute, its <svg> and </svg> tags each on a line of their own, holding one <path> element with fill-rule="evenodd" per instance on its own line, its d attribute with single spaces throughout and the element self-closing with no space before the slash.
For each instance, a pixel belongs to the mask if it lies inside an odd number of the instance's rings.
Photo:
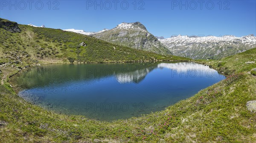
<svg viewBox="0 0 256 143">
<path fill-rule="evenodd" d="M 192 59 L 220 59 L 256 47 L 253 34 L 242 37 L 177 35 L 158 40 L 174 55 Z"/>
</svg>

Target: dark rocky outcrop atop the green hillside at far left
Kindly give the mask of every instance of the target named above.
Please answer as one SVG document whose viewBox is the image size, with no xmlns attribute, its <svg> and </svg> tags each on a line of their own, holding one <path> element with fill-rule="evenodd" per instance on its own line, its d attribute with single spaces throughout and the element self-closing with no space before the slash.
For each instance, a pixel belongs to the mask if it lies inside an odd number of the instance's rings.
<svg viewBox="0 0 256 143">
<path fill-rule="evenodd" d="M 12 33 L 21 32 L 17 22 L 12 22 L 2 18 L 0 18 L 0 28 L 3 28 L 6 31 L 10 31 Z"/>
</svg>

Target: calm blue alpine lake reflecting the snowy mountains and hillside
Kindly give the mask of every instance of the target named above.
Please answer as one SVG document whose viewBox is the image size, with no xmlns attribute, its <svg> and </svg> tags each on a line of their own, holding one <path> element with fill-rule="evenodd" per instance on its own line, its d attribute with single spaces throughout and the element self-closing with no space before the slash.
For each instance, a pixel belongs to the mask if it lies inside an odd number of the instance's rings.
<svg viewBox="0 0 256 143">
<path fill-rule="evenodd" d="M 156 112 L 225 79 L 197 63 L 49 64 L 11 79 L 18 95 L 58 113 L 113 121 Z"/>
</svg>

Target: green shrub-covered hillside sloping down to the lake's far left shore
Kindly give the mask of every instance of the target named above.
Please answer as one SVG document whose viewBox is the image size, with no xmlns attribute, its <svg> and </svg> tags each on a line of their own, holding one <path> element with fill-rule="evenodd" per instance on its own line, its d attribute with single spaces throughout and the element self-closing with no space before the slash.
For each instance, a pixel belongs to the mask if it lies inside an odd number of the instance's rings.
<svg viewBox="0 0 256 143">
<path fill-rule="evenodd" d="M 8 22 L 9 25 L 10 21 L 0 19 L 0 22 L 3 24 L 0 28 L 0 68 L 3 73 L 17 73 L 34 64 L 189 61 L 178 56 L 163 56 L 114 45 L 61 29 L 19 25 L 20 32 L 12 33 L 4 29 L 4 24 Z M 85 45 L 79 45 L 81 42 Z"/>
</svg>

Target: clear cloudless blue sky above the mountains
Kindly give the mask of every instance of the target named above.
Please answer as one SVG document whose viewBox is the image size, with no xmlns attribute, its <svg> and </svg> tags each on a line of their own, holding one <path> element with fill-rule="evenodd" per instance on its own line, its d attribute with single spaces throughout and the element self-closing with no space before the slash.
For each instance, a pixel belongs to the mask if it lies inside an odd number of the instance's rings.
<svg viewBox="0 0 256 143">
<path fill-rule="evenodd" d="M 256 35 L 256 0 L 144 0 L 136 1 L 136 6 L 134 0 L 56 0 L 51 5 L 49 0 L 32 2 L 1 0 L 0 17 L 20 24 L 84 31 L 139 21 L 151 34 L 165 38 L 178 34 Z"/>
</svg>

